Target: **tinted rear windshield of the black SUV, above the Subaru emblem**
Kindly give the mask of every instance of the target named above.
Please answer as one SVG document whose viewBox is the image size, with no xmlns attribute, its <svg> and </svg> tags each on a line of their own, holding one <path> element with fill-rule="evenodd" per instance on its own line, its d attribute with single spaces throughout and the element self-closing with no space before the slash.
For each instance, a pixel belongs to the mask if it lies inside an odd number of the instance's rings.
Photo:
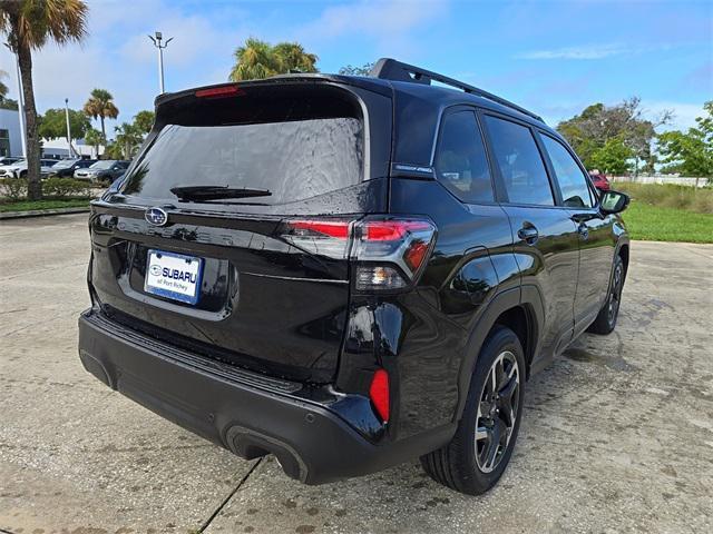
<svg viewBox="0 0 713 534">
<path fill-rule="evenodd" d="M 221 106 L 216 101 L 214 106 Z M 211 204 L 279 205 L 304 200 L 359 184 L 363 176 L 361 118 L 333 116 L 343 107 L 329 101 L 304 106 L 291 99 L 253 101 L 250 117 L 241 100 L 229 100 L 216 122 L 167 123 L 127 177 L 123 192 L 176 200 L 172 188 L 227 186 L 267 189 L 270 196 L 221 199 Z M 264 106 L 266 111 L 260 111 Z M 268 111 L 267 111 L 268 109 Z M 345 113 L 339 113 L 345 115 Z M 263 120 L 255 120 L 258 117 Z M 179 121 L 176 121 L 179 122 Z M 184 121 L 185 122 L 185 121 Z"/>
</svg>

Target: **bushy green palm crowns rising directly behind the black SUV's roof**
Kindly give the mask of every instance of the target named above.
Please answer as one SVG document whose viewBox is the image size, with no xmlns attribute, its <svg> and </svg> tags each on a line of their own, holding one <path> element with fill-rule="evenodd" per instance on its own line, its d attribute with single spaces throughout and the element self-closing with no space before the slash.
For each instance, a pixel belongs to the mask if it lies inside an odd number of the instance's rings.
<svg viewBox="0 0 713 534">
<path fill-rule="evenodd" d="M 291 70 L 318 72 L 318 57 L 307 53 L 296 42 L 280 42 L 274 47 L 260 39 L 248 38 L 245 44 L 235 50 L 235 66 L 229 80 L 257 80 Z"/>
</svg>

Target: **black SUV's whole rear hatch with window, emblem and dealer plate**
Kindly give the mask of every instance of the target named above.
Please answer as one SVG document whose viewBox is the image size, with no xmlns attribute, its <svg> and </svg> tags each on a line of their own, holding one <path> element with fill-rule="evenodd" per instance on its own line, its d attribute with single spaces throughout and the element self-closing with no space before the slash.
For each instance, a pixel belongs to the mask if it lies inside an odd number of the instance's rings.
<svg viewBox="0 0 713 534">
<path fill-rule="evenodd" d="M 206 357 L 330 382 L 350 298 L 349 241 L 331 229 L 385 211 L 391 146 L 388 92 L 348 81 L 162 97 L 141 154 L 92 204 L 95 306 Z"/>
</svg>

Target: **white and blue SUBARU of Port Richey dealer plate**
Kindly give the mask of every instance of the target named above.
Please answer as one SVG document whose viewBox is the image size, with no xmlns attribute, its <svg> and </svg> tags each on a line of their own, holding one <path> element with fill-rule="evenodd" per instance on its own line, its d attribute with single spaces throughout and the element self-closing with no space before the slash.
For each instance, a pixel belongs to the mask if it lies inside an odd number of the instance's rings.
<svg viewBox="0 0 713 534">
<path fill-rule="evenodd" d="M 201 297 L 203 258 L 149 250 L 144 290 L 154 295 L 196 304 Z"/>
</svg>

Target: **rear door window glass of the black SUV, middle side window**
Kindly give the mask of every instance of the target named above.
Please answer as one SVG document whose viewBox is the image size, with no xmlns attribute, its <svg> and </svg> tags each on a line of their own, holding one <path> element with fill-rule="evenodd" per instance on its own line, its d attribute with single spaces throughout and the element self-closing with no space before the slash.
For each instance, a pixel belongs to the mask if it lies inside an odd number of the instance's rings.
<svg viewBox="0 0 713 534">
<path fill-rule="evenodd" d="M 489 115 L 485 117 L 509 201 L 554 206 L 547 170 L 530 129 Z"/>
</svg>

